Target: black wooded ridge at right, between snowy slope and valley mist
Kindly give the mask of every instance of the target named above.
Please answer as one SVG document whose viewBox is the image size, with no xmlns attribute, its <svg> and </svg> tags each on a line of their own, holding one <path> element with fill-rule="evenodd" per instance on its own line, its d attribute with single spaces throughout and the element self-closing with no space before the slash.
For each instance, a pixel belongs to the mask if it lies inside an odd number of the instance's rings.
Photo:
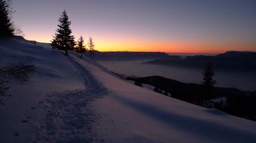
<svg viewBox="0 0 256 143">
<path fill-rule="evenodd" d="M 211 96 L 205 93 L 202 84 L 186 84 L 161 76 L 145 78 L 126 78 L 141 84 L 155 87 L 155 92 L 200 105 L 206 108 L 217 108 L 228 114 L 256 121 L 256 91 L 245 92 L 235 88 L 213 87 Z M 170 93 L 170 94 L 167 94 Z M 216 100 L 220 99 L 220 100 Z"/>
</svg>

